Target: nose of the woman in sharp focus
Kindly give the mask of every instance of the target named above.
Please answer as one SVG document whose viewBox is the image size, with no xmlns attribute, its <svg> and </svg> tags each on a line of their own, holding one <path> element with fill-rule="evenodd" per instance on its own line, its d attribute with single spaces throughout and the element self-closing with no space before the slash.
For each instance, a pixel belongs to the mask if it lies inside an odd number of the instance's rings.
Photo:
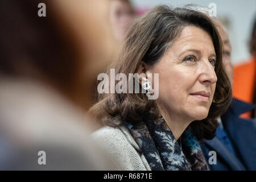
<svg viewBox="0 0 256 182">
<path fill-rule="evenodd" d="M 208 60 L 201 62 L 199 81 L 202 84 L 207 85 L 212 85 L 217 82 L 217 76 L 214 67 Z"/>
</svg>

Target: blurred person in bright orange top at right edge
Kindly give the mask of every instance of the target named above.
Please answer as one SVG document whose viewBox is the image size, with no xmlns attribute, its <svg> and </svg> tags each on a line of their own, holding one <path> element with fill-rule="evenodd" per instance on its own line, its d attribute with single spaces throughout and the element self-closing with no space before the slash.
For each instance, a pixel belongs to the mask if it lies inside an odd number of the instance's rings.
<svg viewBox="0 0 256 182">
<path fill-rule="evenodd" d="M 250 40 L 251 58 L 243 64 L 234 67 L 234 82 L 233 82 L 233 96 L 245 101 L 255 104 L 256 100 L 256 18 L 254 21 L 253 31 Z M 255 110 L 252 113 L 245 113 L 241 115 L 245 118 L 255 118 Z"/>
</svg>

